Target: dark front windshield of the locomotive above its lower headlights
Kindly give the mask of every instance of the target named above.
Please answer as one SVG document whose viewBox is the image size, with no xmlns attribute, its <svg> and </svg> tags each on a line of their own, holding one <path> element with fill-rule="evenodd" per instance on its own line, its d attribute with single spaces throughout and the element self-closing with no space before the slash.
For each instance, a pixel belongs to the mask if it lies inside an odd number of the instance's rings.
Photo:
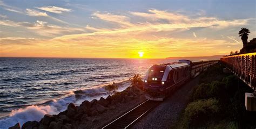
<svg viewBox="0 0 256 129">
<path fill-rule="evenodd" d="M 165 67 L 166 66 L 152 66 L 149 69 L 149 80 L 157 78 L 158 81 L 161 81 L 161 78 L 164 76 Z"/>
</svg>

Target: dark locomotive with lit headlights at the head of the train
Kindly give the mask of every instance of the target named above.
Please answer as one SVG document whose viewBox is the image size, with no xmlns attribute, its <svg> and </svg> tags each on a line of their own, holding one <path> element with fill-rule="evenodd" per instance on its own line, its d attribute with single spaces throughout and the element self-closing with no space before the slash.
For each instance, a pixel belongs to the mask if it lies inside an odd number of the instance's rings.
<svg viewBox="0 0 256 129">
<path fill-rule="evenodd" d="M 163 101 L 171 91 L 190 80 L 189 62 L 155 64 L 147 70 L 144 89 L 146 98 Z"/>
</svg>

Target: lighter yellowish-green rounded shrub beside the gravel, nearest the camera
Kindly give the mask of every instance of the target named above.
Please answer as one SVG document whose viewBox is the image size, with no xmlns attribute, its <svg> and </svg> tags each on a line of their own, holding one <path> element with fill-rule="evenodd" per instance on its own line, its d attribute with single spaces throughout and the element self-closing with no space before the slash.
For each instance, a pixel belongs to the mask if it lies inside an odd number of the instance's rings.
<svg viewBox="0 0 256 129">
<path fill-rule="evenodd" d="M 218 111 L 217 99 L 203 99 L 188 104 L 184 113 L 187 128 L 204 125 L 215 117 Z"/>
</svg>

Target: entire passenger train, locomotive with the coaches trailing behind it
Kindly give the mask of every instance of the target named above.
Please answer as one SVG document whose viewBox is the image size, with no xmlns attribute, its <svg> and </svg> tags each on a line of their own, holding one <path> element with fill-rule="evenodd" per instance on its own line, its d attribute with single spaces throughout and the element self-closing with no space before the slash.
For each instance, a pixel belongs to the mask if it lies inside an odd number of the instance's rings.
<svg viewBox="0 0 256 129">
<path fill-rule="evenodd" d="M 219 60 L 179 60 L 174 63 L 154 64 L 144 77 L 144 90 L 146 98 L 153 101 L 163 101 L 164 98 L 175 91 L 191 78 Z"/>
</svg>

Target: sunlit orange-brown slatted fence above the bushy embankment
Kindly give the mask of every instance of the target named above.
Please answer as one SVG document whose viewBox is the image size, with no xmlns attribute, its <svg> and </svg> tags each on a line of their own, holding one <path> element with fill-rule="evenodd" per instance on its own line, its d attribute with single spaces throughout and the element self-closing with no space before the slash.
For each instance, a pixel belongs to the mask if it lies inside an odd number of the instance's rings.
<svg viewBox="0 0 256 129">
<path fill-rule="evenodd" d="M 256 53 L 226 56 L 220 61 L 256 91 Z"/>
</svg>

